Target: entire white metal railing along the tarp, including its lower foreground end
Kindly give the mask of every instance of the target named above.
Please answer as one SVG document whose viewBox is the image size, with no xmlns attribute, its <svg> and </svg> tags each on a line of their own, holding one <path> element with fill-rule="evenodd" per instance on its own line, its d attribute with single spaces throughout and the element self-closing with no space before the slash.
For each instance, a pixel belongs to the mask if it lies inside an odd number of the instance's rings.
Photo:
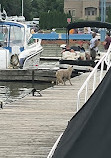
<svg viewBox="0 0 111 158">
<path fill-rule="evenodd" d="M 99 83 L 102 81 L 102 78 L 103 78 L 103 70 L 104 70 L 104 63 L 106 63 L 106 66 L 107 66 L 107 70 L 106 72 L 108 71 L 108 69 L 110 68 L 110 65 L 111 65 L 111 61 L 110 61 L 110 52 L 111 52 L 111 45 L 108 49 L 108 51 L 105 53 L 105 55 L 102 56 L 102 58 L 99 60 L 99 62 L 96 64 L 96 66 L 94 67 L 94 69 L 92 70 L 92 72 L 90 73 L 90 75 L 87 77 L 86 81 L 84 82 L 84 84 L 82 85 L 82 87 L 80 88 L 80 90 L 78 91 L 78 100 L 77 100 L 77 111 L 79 110 L 79 105 L 80 105 L 80 94 L 81 92 L 83 91 L 83 89 L 85 89 L 85 102 L 87 101 L 88 99 L 88 83 L 90 81 L 90 78 L 93 76 L 94 79 L 93 79 L 93 88 L 92 88 L 92 93 L 94 92 L 95 88 L 96 88 L 96 74 L 97 74 L 97 70 L 98 70 L 98 67 L 100 66 L 101 68 L 99 69 L 100 70 L 100 78 L 99 78 Z M 47 156 L 47 158 L 52 158 L 54 152 L 55 152 L 55 149 L 62 137 L 63 133 L 58 137 L 57 141 L 55 142 L 54 146 L 52 147 L 49 155 Z"/>
</svg>

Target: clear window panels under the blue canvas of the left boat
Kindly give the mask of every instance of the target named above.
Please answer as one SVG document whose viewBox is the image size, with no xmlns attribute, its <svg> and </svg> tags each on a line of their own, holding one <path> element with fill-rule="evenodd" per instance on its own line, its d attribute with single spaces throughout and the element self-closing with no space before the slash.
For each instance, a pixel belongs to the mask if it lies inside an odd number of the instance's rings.
<svg viewBox="0 0 111 158">
<path fill-rule="evenodd" d="M 0 44 L 3 47 L 18 45 L 23 47 L 24 28 L 10 25 L 0 25 Z"/>
</svg>

